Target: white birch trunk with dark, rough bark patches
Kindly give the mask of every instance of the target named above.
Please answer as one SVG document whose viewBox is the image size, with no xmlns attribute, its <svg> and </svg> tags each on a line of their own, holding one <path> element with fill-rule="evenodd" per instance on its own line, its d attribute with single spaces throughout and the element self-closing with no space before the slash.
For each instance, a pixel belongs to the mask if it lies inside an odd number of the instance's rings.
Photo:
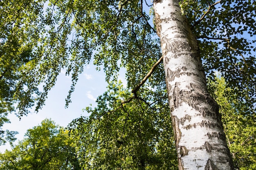
<svg viewBox="0 0 256 170">
<path fill-rule="evenodd" d="M 179 170 L 233 170 L 218 104 L 179 0 L 154 0 Z"/>
</svg>

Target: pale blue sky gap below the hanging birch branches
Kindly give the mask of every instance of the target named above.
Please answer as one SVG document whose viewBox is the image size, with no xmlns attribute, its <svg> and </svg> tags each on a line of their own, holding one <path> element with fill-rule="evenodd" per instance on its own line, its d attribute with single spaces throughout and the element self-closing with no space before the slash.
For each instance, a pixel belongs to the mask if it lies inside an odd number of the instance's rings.
<svg viewBox="0 0 256 170">
<path fill-rule="evenodd" d="M 124 75 L 119 79 L 124 82 Z M 93 64 L 86 66 L 84 72 L 79 75 L 75 91 L 72 93 L 72 103 L 68 108 L 65 108 L 65 98 L 70 85 L 71 77 L 66 76 L 65 71 L 61 71 L 54 88 L 49 91 L 43 109 L 39 110 L 37 114 L 32 110 L 29 115 L 22 117 L 21 120 L 11 114 L 9 115 L 11 123 L 5 124 L 3 129 L 18 131 L 19 134 L 16 135 L 18 141 L 23 139 L 27 129 L 37 126 L 46 118 L 51 118 L 56 124 L 65 127 L 81 115 L 88 116 L 88 113 L 83 112 L 82 109 L 90 104 L 92 104 L 92 107 L 96 106 L 95 100 L 97 96 L 106 91 L 107 83 L 103 71 L 96 71 Z M 0 152 L 4 152 L 6 149 L 10 150 L 9 144 L 0 146 Z"/>
</svg>

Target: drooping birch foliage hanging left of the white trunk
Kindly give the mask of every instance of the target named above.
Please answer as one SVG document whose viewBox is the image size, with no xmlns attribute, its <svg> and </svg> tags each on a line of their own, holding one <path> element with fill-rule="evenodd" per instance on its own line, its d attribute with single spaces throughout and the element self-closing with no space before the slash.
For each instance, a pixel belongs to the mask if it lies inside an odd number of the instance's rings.
<svg viewBox="0 0 256 170">
<path fill-rule="evenodd" d="M 38 110 L 43 106 L 48 91 L 54 86 L 61 69 L 65 69 L 67 75 L 72 75 L 73 82 L 66 99 L 68 105 L 79 73 L 92 61 L 99 69 L 103 65 L 108 82 L 117 79 L 119 68 L 125 67 L 128 87 L 133 88 L 161 57 L 159 39 L 155 37 L 155 30 L 148 24 L 150 18 L 141 2 L 2 2 L 3 11 L 12 9 L 9 11 L 10 16 L 19 13 L 19 17 L 10 20 L 10 23 L 19 28 L 15 34 L 22 35 L 22 43 L 25 47 L 31 47 L 34 57 L 22 67 L 22 72 L 26 73 L 23 76 L 27 78 L 20 83 L 22 86 L 22 83 L 27 82 L 28 94 L 22 95 L 18 91 L 17 96 L 24 99 L 23 102 L 30 103 L 34 87 L 42 84 L 43 91 L 36 101 Z M 4 17 L 6 16 L 2 16 Z M 3 20 L 3 24 L 9 24 L 8 21 Z M 15 26 L 10 28 L 14 29 Z M 7 35 L 7 32 L 3 32 L 3 36 Z M 147 64 L 141 65 L 144 61 L 147 61 Z M 162 68 L 157 68 L 153 75 L 157 76 L 149 81 L 152 86 L 162 86 Z M 25 114 L 26 112 L 19 113 L 20 116 Z"/>
</svg>

